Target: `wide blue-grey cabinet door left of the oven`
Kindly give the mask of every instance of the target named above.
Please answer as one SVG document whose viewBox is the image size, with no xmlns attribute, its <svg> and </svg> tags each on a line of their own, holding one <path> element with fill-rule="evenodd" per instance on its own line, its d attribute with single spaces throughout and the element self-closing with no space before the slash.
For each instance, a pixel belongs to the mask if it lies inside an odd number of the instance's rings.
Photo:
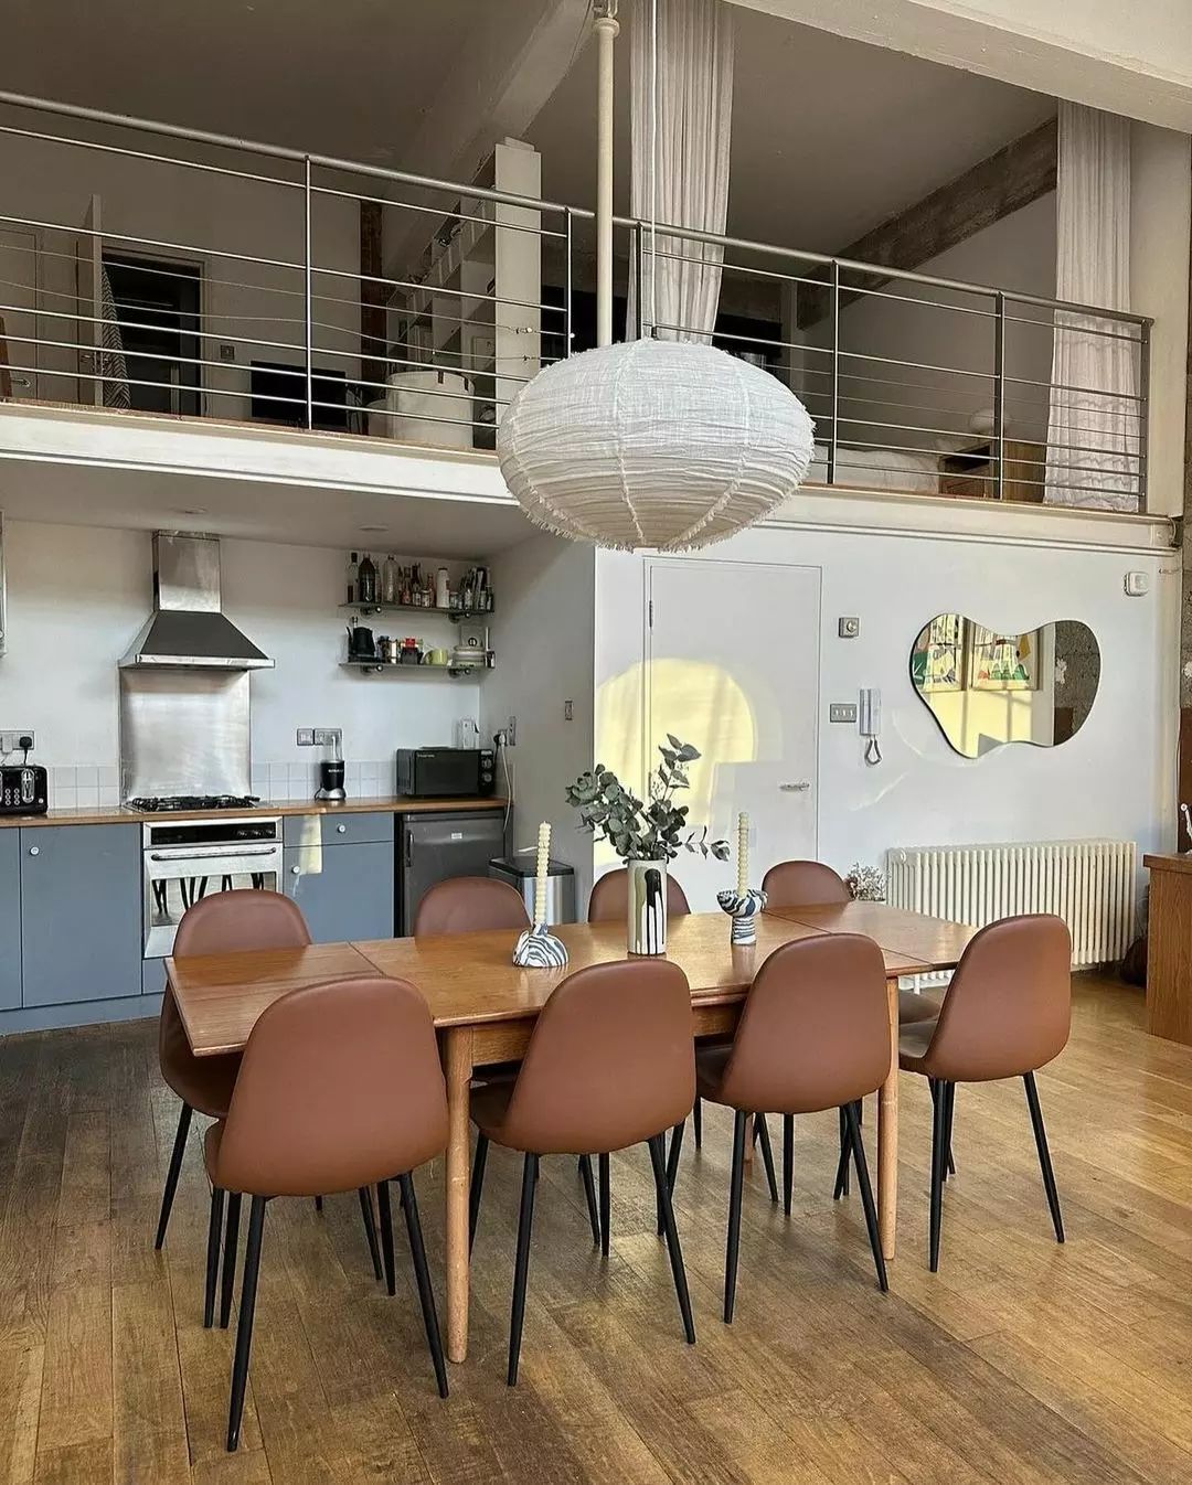
<svg viewBox="0 0 1192 1485">
<path fill-rule="evenodd" d="M 12 833 L 21 836 L 21 1004 L 140 995 L 140 826 Z"/>
</svg>

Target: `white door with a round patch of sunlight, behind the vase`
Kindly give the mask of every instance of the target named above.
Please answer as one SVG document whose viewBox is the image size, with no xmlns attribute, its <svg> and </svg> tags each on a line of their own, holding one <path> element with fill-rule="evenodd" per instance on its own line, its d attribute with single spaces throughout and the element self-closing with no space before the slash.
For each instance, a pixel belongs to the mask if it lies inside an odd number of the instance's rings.
<svg viewBox="0 0 1192 1485">
<path fill-rule="evenodd" d="M 736 846 L 751 823 L 751 887 L 776 861 L 816 854 L 819 569 L 704 558 L 648 564 L 647 747 L 672 732 L 703 757 L 678 796 Z M 650 766 L 658 760 L 652 753 Z M 696 912 L 736 885 L 731 863 L 681 854 Z"/>
</svg>

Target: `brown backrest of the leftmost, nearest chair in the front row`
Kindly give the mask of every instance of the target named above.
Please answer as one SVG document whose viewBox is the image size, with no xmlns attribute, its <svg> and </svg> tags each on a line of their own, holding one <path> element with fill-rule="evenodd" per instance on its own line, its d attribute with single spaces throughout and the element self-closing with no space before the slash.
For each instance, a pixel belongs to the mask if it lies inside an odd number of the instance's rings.
<svg viewBox="0 0 1192 1485">
<path fill-rule="evenodd" d="M 262 1013 L 244 1048 L 213 1178 L 253 1195 L 352 1191 L 447 1145 L 427 1002 L 406 980 L 331 980 Z"/>
</svg>

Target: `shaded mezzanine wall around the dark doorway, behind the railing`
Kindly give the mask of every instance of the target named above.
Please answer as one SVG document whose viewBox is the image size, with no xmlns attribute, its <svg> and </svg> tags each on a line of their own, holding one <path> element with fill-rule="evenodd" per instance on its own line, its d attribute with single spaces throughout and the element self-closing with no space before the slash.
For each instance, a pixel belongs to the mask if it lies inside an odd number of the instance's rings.
<svg viewBox="0 0 1192 1485">
<path fill-rule="evenodd" d="M 49 129 L 55 125 L 51 122 Z M 76 128 L 74 125 L 70 126 Z M 85 131 L 86 126 L 79 126 Z M 64 126 L 64 132 L 67 128 Z M 162 153 L 193 150 L 178 143 L 122 134 L 125 148 Z M 227 163 L 224 156 L 221 163 Z M 245 157 L 235 162 L 239 169 L 253 169 L 259 162 Z M 296 178 L 296 166 L 269 162 L 260 172 Z M 4 183 L 4 214 L 40 223 L 51 229 L 34 229 L 40 238 L 37 263 L 39 336 L 45 340 L 76 342 L 74 324 L 55 319 L 48 312 L 76 313 L 76 254 L 86 239 L 74 229 L 83 226 L 92 195 L 101 198 L 101 226 L 111 236 L 106 247 L 113 252 L 149 257 L 180 257 L 202 264 L 202 328 L 216 339 L 204 342 L 204 356 L 217 362 L 204 371 L 204 385 L 211 391 L 244 394 L 248 389 L 248 367 L 253 359 L 291 362 L 303 356 L 303 276 L 293 269 L 257 266 L 241 258 L 223 258 L 204 249 L 245 252 L 253 257 L 284 263 L 303 261 L 303 193 L 259 181 L 235 180 L 175 165 L 106 154 L 98 150 L 48 144 L 0 135 L 0 180 Z M 314 258 L 321 267 L 358 272 L 360 223 L 354 200 L 315 198 L 312 214 Z M 64 230 L 56 230 L 56 229 Z M 149 238 L 180 245 L 178 252 L 137 248 L 117 241 L 116 235 Z M 181 251 L 193 248 L 198 251 Z M 31 270 L 31 266 L 30 266 Z M 33 282 L 31 272 L 30 281 Z M 0 287 L 3 293 L 3 287 Z M 318 328 L 315 347 L 323 350 L 320 367 L 337 368 L 351 379 L 360 374 L 358 288 L 351 279 L 317 278 L 315 306 Z M 10 300 L 4 300 L 10 301 Z M 342 301 L 342 303 L 340 303 Z M 89 310 L 88 310 L 89 312 Z M 88 327 L 82 327 L 86 340 Z M 218 343 L 236 343 L 241 337 L 279 342 L 290 349 L 268 346 L 236 346 L 236 362 L 220 362 Z M 28 347 L 13 346 L 25 361 Z M 351 352 L 348 356 L 327 352 Z M 28 364 L 25 361 L 25 364 Z M 74 401 L 76 353 L 71 349 L 43 347 L 39 365 L 68 371 L 70 376 L 43 376 L 37 388 L 42 398 Z M 88 383 L 89 392 L 89 383 Z M 89 399 L 89 395 L 88 395 Z M 248 402 L 241 395 L 208 398 L 213 417 L 247 417 Z"/>
</svg>

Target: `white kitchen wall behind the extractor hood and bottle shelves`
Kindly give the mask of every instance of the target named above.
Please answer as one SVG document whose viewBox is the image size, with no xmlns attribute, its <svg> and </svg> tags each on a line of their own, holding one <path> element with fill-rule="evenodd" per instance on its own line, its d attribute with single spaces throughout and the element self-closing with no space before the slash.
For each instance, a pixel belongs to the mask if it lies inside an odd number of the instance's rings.
<svg viewBox="0 0 1192 1485">
<path fill-rule="evenodd" d="M 152 603 L 153 555 L 144 532 L 4 524 L 7 655 L 0 659 L 0 728 L 33 728 L 36 759 L 58 774 L 59 802 L 100 803 L 62 789 L 114 789 L 119 762 L 116 661 Z M 343 729 L 354 793 L 391 793 L 398 747 L 452 744 L 455 719 L 479 714 L 486 682 L 446 674 L 361 676 L 345 652 L 346 555 L 315 546 L 224 541 L 227 615 L 276 661 L 253 676 L 254 792 L 309 794 L 317 748 L 299 748 L 299 726 Z M 382 633 L 450 644 L 450 619 L 404 613 Z M 486 677 L 488 680 L 488 677 Z M 106 784 L 92 778 L 104 769 Z M 54 799 L 51 800 L 54 803 Z"/>
</svg>

